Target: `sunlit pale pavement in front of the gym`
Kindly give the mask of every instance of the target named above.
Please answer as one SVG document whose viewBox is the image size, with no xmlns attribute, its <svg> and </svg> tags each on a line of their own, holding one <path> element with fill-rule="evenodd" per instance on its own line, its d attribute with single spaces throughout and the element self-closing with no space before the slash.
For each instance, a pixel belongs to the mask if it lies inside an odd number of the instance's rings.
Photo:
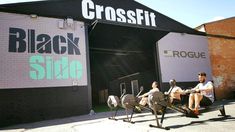
<svg viewBox="0 0 235 132">
<path fill-rule="evenodd" d="M 212 111 L 199 115 L 199 118 L 187 118 L 181 113 L 168 111 L 163 126 L 176 132 L 235 132 L 235 100 L 218 102 L 225 104 L 227 117 L 218 116 L 220 112 Z M 47 120 L 28 124 L 19 124 L 0 128 L 4 132 L 161 132 L 168 131 L 149 127 L 156 125 L 155 116 L 144 111 L 134 114 L 132 123 L 123 122 L 125 111 L 119 111 L 118 120 L 110 120 L 112 112 L 93 115 L 74 116 L 63 119 Z"/>
</svg>

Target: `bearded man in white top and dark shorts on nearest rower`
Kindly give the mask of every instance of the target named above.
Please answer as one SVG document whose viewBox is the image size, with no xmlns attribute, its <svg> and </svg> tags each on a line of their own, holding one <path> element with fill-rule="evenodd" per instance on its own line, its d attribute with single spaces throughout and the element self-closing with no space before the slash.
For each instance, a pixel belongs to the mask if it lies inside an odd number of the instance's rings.
<svg viewBox="0 0 235 132">
<path fill-rule="evenodd" d="M 199 84 L 193 88 L 195 93 L 189 96 L 189 109 L 193 110 L 196 115 L 199 115 L 199 106 L 209 106 L 214 102 L 213 84 L 211 81 L 206 82 L 206 73 L 198 74 Z M 194 104 L 194 109 L 193 109 Z"/>
</svg>

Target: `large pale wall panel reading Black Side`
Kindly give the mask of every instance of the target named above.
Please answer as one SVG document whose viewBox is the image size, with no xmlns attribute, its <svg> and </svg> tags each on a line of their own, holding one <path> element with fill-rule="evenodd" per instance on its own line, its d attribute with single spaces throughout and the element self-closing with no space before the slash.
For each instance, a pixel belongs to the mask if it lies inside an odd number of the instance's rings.
<svg viewBox="0 0 235 132">
<path fill-rule="evenodd" d="M 0 13 L 0 19 L 0 88 L 87 85 L 84 23 L 61 29 L 54 18 Z"/>
</svg>

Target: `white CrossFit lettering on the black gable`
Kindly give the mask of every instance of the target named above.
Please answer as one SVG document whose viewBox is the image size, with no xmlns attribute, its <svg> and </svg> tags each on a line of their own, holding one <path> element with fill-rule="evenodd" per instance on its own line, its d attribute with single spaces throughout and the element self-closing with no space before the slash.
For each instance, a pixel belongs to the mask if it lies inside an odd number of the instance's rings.
<svg viewBox="0 0 235 132">
<path fill-rule="evenodd" d="M 154 12 L 143 9 L 124 10 L 95 4 L 92 0 L 82 0 L 82 16 L 85 19 L 102 19 L 128 24 L 156 27 Z"/>
</svg>

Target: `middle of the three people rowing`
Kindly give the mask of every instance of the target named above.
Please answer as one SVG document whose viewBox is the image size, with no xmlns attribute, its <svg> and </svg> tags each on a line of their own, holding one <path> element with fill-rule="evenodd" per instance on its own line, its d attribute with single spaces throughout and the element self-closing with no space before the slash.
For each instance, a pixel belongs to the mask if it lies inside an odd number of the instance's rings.
<svg viewBox="0 0 235 132">
<path fill-rule="evenodd" d="M 171 104 L 181 104 L 181 95 L 185 94 L 185 92 L 176 85 L 175 79 L 169 81 L 170 89 L 165 94 L 170 96 L 170 103 Z"/>
</svg>

